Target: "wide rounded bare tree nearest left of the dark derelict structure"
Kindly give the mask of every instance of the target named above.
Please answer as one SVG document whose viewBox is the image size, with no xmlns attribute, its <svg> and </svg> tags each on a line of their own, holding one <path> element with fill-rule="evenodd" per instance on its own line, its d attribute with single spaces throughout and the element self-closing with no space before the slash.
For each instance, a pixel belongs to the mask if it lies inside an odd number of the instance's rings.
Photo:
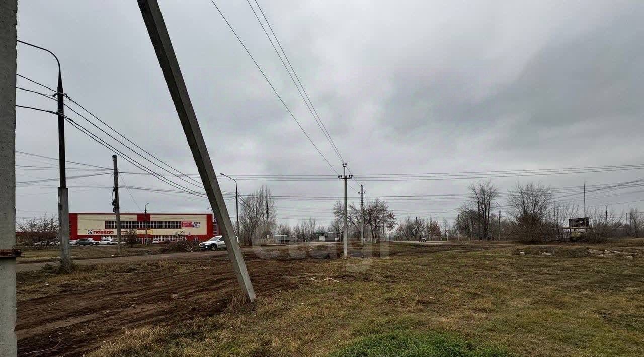
<svg viewBox="0 0 644 357">
<path fill-rule="evenodd" d="M 553 197 L 553 190 L 541 183 L 516 183 L 508 203 L 509 214 L 514 219 L 514 233 L 520 241 L 540 242 L 552 235 L 548 218 Z"/>
</svg>

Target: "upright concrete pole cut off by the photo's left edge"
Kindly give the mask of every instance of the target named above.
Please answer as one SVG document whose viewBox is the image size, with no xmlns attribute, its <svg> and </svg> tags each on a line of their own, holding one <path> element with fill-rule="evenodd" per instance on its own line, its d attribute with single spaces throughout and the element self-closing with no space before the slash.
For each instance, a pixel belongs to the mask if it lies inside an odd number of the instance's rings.
<svg viewBox="0 0 644 357">
<path fill-rule="evenodd" d="M 15 24 L 17 1 L 0 2 L 0 356 L 15 357 Z"/>
</svg>

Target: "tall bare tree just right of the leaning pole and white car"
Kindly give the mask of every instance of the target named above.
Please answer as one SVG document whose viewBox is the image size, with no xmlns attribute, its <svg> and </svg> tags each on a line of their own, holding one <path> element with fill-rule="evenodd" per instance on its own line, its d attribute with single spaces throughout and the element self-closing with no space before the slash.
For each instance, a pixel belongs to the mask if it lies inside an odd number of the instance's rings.
<svg viewBox="0 0 644 357">
<path fill-rule="evenodd" d="M 240 212 L 240 230 L 242 230 L 242 241 L 246 245 L 260 237 L 272 235 L 277 223 L 277 212 L 275 199 L 270 188 L 262 185 L 258 190 L 245 196 L 242 199 L 242 210 Z"/>
</svg>

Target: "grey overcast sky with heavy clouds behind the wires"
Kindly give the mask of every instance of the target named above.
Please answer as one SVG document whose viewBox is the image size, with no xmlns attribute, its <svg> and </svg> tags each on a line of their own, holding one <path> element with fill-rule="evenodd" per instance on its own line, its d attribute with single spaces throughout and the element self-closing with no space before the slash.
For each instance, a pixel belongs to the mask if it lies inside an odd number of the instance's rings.
<svg viewBox="0 0 644 357">
<path fill-rule="evenodd" d="M 358 179 L 365 174 L 643 163 L 642 1 L 258 1 Z M 341 161 L 248 3 L 216 3 L 317 147 L 341 172 Z M 216 172 L 336 175 L 211 1 L 160 0 L 160 5 Z M 172 167 L 196 174 L 137 1 L 19 0 L 18 38 L 57 54 L 71 98 Z M 19 45 L 18 72 L 56 86 L 55 61 L 42 51 Z M 18 85 L 42 89 L 22 78 Z M 23 91 L 17 93 L 17 104 L 55 110 L 55 101 Z M 17 150 L 57 158 L 56 123 L 52 114 L 17 109 Z M 70 161 L 111 167 L 112 153 L 69 124 L 66 148 Z M 17 165 L 57 167 L 57 162 L 17 154 Z M 122 171 L 139 171 L 121 159 L 119 165 Z M 146 167 L 161 172 L 149 163 Z M 17 181 L 57 177 L 55 169 L 31 169 L 18 168 Z M 70 170 L 68 176 L 88 173 L 94 172 Z M 173 189 L 151 176 L 122 176 L 127 185 Z M 493 182 L 508 190 L 516 181 L 569 187 L 582 185 L 584 178 L 588 185 L 620 183 L 642 178 L 642 170 Z M 362 183 L 367 199 L 373 199 L 460 194 L 471 181 Z M 109 175 L 69 179 L 70 212 L 110 212 L 112 183 Z M 234 191 L 231 180 L 220 183 Z M 278 195 L 343 194 L 337 179 L 239 183 L 242 194 L 262 183 Z M 357 181 L 351 183 L 359 188 Z M 37 185 L 17 187 L 18 217 L 55 214 L 57 181 Z M 350 197 L 357 196 L 349 190 Z M 644 192 L 634 191 L 593 192 L 588 205 L 607 204 L 617 213 L 644 207 Z M 176 192 L 132 189 L 121 190 L 120 197 L 122 212 L 137 212 L 148 202 L 151 212 L 206 212 L 209 206 L 207 199 Z M 581 197 L 579 190 L 567 199 Z M 234 215 L 234 200 L 228 202 Z M 454 217 L 461 202 L 390 201 L 399 217 L 439 219 Z M 278 217 L 295 223 L 312 216 L 328 223 L 332 203 L 279 199 Z"/>
</svg>

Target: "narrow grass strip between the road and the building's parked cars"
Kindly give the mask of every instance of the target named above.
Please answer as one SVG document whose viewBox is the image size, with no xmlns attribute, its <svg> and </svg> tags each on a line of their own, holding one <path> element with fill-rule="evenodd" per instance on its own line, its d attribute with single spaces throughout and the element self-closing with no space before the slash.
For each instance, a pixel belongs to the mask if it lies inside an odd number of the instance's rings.
<svg viewBox="0 0 644 357">
<path fill-rule="evenodd" d="M 162 244 L 142 244 L 135 245 L 133 248 L 123 245 L 121 257 L 132 257 L 136 255 L 152 255 L 158 253 L 163 248 Z M 71 259 L 97 259 L 109 258 L 117 255 L 116 246 L 71 246 Z M 33 262 L 57 262 L 61 259 L 60 248 L 47 248 L 41 250 L 23 250 L 23 255 L 17 259 L 17 264 Z"/>
</svg>

